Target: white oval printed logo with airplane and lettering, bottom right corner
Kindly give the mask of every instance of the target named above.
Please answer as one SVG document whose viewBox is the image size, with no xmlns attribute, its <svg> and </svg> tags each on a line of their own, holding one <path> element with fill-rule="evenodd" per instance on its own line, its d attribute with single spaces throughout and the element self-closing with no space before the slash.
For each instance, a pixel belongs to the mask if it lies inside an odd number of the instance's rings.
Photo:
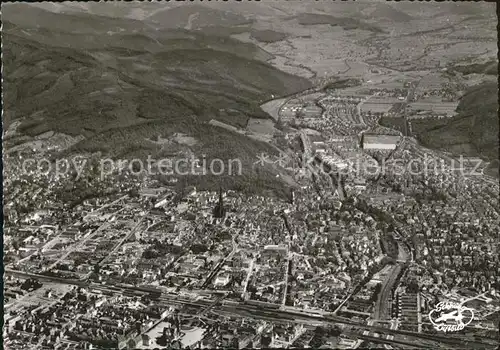
<svg viewBox="0 0 500 350">
<path fill-rule="evenodd" d="M 434 329 L 442 332 L 457 332 L 464 329 L 474 319 L 474 311 L 459 303 L 440 302 L 429 313 Z"/>
</svg>

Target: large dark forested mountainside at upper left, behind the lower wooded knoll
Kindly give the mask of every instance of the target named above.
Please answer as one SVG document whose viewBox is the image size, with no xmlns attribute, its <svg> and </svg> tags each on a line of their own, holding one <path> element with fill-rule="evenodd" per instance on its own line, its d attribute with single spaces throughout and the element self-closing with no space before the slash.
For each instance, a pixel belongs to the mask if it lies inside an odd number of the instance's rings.
<svg viewBox="0 0 500 350">
<path fill-rule="evenodd" d="M 269 145 L 208 121 L 244 128 L 270 118 L 259 106 L 273 95 L 311 87 L 231 38 L 29 6 L 22 16 L 15 5 L 2 11 L 4 126 L 21 123 L 14 144 L 54 131 L 83 136 L 66 152 L 158 157 L 164 147 L 151 140 L 182 133 L 195 154 L 253 163 Z"/>
</svg>

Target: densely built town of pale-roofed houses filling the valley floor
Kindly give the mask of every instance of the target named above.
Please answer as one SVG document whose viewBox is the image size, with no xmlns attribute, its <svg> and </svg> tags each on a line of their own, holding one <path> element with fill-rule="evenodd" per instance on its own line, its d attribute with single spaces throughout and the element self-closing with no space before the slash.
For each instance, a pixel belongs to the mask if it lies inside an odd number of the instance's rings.
<svg viewBox="0 0 500 350">
<path fill-rule="evenodd" d="M 65 180 L 16 172 L 9 158 L 6 344 L 352 348 L 362 337 L 348 330 L 259 313 L 435 333 L 427 315 L 450 299 L 470 301 L 473 326 L 494 332 L 498 184 L 376 126 L 388 110 L 371 106 L 403 103 L 409 87 L 285 106 L 308 129 L 302 156 L 342 170 L 295 169 L 305 175 L 287 200 L 128 173 L 93 181 L 93 167 Z M 368 163 L 384 169 L 360 172 Z"/>
</svg>

